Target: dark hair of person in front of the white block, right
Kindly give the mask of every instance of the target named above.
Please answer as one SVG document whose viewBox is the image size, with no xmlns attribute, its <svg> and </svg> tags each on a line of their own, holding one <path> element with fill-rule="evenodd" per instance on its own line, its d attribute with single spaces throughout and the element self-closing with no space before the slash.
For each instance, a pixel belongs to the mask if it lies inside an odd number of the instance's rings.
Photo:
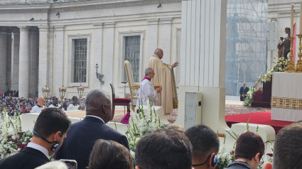
<svg viewBox="0 0 302 169">
<path fill-rule="evenodd" d="M 259 158 L 264 154 L 264 143 L 261 136 L 253 132 L 242 133 L 237 139 L 234 158 L 244 158 L 251 160 L 257 153 L 260 153 Z"/>
</svg>

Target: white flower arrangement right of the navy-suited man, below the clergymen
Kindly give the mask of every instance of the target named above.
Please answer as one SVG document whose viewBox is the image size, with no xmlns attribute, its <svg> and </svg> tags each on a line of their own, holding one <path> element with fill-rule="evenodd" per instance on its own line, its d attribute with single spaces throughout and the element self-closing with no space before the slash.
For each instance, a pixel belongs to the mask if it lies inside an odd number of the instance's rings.
<svg viewBox="0 0 302 169">
<path fill-rule="evenodd" d="M 156 114 L 155 109 L 152 109 L 152 104 L 149 99 L 149 111 L 150 114 L 144 113 L 142 103 L 139 105 L 137 114 L 130 109 L 129 125 L 127 126 L 126 137 L 128 138 L 129 147 L 131 151 L 134 151 L 136 143 L 144 136 L 148 135 L 156 129 L 161 129 L 161 121 Z"/>
</svg>

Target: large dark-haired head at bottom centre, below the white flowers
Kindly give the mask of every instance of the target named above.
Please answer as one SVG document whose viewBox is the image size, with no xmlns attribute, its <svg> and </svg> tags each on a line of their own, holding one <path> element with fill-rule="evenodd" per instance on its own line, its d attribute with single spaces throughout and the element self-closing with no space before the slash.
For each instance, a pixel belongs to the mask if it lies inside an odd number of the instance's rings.
<svg viewBox="0 0 302 169">
<path fill-rule="evenodd" d="M 159 129 L 137 143 L 135 162 L 144 169 L 190 169 L 192 146 L 184 133 Z"/>
</svg>

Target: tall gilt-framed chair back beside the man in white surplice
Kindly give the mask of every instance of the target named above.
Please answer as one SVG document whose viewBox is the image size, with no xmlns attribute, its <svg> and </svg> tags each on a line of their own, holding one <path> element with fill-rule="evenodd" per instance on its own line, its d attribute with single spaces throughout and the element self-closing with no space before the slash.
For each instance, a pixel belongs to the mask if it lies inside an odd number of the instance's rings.
<svg viewBox="0 0 302 169">
<path fill-rule="evenodd" d="M 130 62 L 128 60 L 125 60 L 124 63 L 125 63 L 125 70 L 126 70 L 126 75 L 127 75 L 130 94 L 131 94 L 131 104 L 132 104 L 131 109 L 134 110 L 136 107 L 137 97 L 139 95 L 138 93 L 139 84 L 134 84 L 134 78 L 133 78 Z"/>
</svg>

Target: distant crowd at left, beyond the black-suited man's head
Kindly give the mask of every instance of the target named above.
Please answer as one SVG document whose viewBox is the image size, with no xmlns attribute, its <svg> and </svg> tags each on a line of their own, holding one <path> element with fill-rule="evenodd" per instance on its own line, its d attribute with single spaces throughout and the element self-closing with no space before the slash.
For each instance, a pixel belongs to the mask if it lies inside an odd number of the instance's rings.
<svg viewBox="0 0 302 169">
<path fill-rule="evenodd" d="M 35 98 L 18 98 L 18 97 L 0 97 L 0 112 L 3 115 L 4 111 L 10 115 L 14 116 L 16 114 L 26 114 L 26 113 L 40 113 L 42 109 L 46 107 L 55 107 L 55 105 L 59 104 L 60 100 L 58 97 L 51 97 L 46 99 L 46 102 L 43 97 L 35 97 Z M 60 105 L 61 106 L 61 105 Z M 60 107 L 59 106 L 59 107 Z M 58 107 L 57 107 L 58 108 Z M 75 110 L 85 109 L 85 99 L 77 99 L 77 97 L 72 97 L 72 99 L 64 99 L 63 105 L 61 109 Z"/>
</svg>

